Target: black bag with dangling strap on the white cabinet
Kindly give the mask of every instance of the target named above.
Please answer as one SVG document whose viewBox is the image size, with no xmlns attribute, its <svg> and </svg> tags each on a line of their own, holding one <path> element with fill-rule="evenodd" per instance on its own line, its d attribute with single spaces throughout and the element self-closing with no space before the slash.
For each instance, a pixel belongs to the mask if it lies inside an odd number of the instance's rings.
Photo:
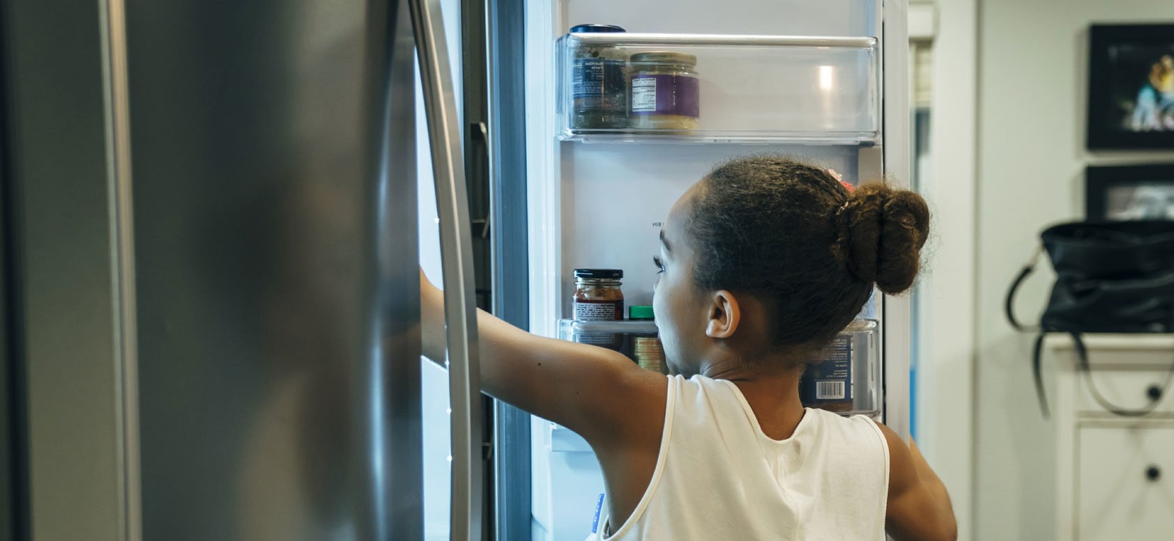
<svg viewBox="0 0 1174 541">
<path fill-rule="evenodd" d="M 1016 319 L 1016 291 L 1034 270 L 1044 250 L 1052 259 L 1057 279 L 1040 318 L 1032 358 L 1040 408 L 1048 415 L 1040 377 L 1044 337 L 1051 332 L 1071 334 L 1079 368 L 1098 404 L 1118 415 L 1145 415 L 1158 407 L 1169 390 L 1174 364 L 1160 393 L 1138 410 L 1111 404 L 1101 395 L 1088 370 L 1085 332 L 1174 332 L 1174 221 L 1073 222 L 1040 234 L 1043 248 L 1024 266 L 1007 291 L 1006 315 L 1017 330 L 1032 330 Z"/>
</svg>

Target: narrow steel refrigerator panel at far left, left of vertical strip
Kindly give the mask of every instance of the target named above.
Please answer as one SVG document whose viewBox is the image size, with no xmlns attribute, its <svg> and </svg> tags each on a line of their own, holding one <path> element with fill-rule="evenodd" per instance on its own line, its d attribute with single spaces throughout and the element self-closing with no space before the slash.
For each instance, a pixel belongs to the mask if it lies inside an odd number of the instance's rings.
<svg viewBox="0 0 1174 541">
<path fill-rule="evenodd" d="M 19 539 L 126 539 L 103 4 L 0 2 Z"/>
</svg>

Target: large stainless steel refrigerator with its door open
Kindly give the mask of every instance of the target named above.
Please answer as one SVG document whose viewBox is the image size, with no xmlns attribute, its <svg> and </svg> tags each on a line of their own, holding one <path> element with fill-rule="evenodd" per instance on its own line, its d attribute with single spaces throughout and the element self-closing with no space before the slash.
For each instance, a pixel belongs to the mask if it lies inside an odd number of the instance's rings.
<svg viewBox="0 0 1174 541">
<path fill-rule="evenodd" d="M 480 394 L 474 307 L 560 337 L 575 268 L 650 304 L 660 222 L 723 160 L 909 173 L 904 0 L 0 9 L 14 540 L 581 540 L 599 465 Z M 694 55 L 696 127 L 575 126 L 589 47 Z M 909 300 L 862 316 L 908 435 Z"/>
</svg>

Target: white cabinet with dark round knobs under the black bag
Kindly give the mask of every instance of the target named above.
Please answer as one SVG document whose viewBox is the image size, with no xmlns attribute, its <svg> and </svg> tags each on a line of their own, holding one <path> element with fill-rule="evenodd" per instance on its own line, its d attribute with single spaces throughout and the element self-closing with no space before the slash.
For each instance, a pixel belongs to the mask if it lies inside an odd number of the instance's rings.
<svg viewBox="0 0 1174 541">
<path fill-rule="evenodd" d="M 1127 418 L 1106 411 L 1088 386 L 1091 377 L 1118 407 L 1146 406 L 1174 363 L 1174 336 L 1086 334 L 1085 345 L 1087 374 L 1070 337 L 1048 338 L 1059 361 L 1055 539 L 1174 539 L 1174 392 Z"/>
</svg>

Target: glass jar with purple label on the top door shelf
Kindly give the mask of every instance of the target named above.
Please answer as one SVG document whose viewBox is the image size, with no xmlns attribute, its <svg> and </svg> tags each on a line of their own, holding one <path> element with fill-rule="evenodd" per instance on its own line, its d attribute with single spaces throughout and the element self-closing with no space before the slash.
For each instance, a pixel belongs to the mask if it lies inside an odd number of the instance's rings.
<svg viewBox="0 0 1174 541">
<path fill-rule="evenodd" d="M 689 130 L 701 116 L 697 58 L 682 53 L 637 53 L 628 72 L 628 126 L 636 129 Z"/>
</svg>

